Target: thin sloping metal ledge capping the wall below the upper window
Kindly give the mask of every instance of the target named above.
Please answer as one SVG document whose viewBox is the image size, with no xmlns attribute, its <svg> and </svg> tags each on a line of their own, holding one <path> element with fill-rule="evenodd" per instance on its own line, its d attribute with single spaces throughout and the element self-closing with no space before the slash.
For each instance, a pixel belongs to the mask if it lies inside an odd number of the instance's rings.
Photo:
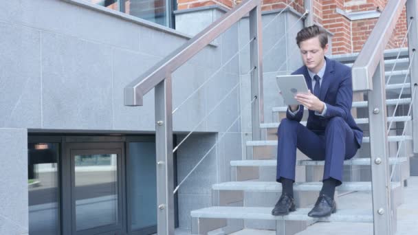
<svg viewBox="0 0 418 235">
<path fill-rule="evenodd" d="M 116 10 L 111 10 L 109 8 L 105 8 L 101 5 L 90 3 L 90 2 L 85 1 L 85 0 L 61 0 L 61 1 L 65 1 L 67 3 L 71 3 L 71 4 L 74 4 L 74 5 L 79 5 L 79 6 L 84 7 L 84 8 L 89 8 L 90 10 L 95 10 L 97 12 L 101 12 L 103 14 L 108 14 L 110 16 L 114 16 L 115 18 L 122 19 L 124 21 L 129 21 L 131 23 L 136 23 L 137 25 L 142 25 L 142 26 L 145 26 L 145 27 L 149 27 L 153 30 L 158 30 L 160 32 L 165 32 L 167 34 L 172 34 L 172 35 L 175 35 L 175 36 L 179 36 L 181 38 L 186 38 L 186 39 L 192 38 L 192 36 L 190 36 L 188 34 L 178 32 L 177 30 L 173 30 L 170 27 L 159 25 L 159 24 L 153 23 L 151 21 L 146 21 L 144 19 L 140 19 L 136 16 L 131 16 L 131 15 L 125 14 L 123 12 L 118 12 Z M 212 46 L 212 47 L 217 47 L 217 45 L 214 45 L 213 43 L 210 43 L 209 45 Z"/>
</svg>

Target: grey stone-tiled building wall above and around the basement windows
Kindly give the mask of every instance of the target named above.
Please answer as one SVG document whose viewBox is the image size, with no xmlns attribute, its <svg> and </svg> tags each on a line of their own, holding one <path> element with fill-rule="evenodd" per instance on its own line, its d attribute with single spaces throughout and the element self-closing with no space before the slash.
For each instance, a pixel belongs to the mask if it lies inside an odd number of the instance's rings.
<svg viewBox="0 0 418 235">
<path fill-rule="evenodd" d="M 159 26 L 152 23 L 128 16 L 124 19 L 120 14 L 61 0 L 2 4 L 0 158 L 4 169 L 0 175 L 0 234 L 28 233 L 28 132 L 155 131 L 154 92 L 146 94 L 144 106 L 125 107 L 123 89 L 189 38 L 170 29 L 156 30 Z M 229 45 L 238 45 L 237 29 L 220 36 L 217 45 L 209 45 L 173 73 L 174 109 L 218 71 L 175 112 L 173 126 L 176 133 L 207 133 L 190 139 L 210 139 L 205 146 L 214 144 L 215 133 L 225 133 L 216 147 L 217 156 L 228 155 L 225 161 L 241 158 L 241 120 L 227 130 L 239 115 L 241 104 L 241 87 L 234 88 L 240 80 L 239 59 L 225 65 L 227 56 L 235 53 Z M 200 159 L 202 148 L 190 146 L 187 156 Z M 222 162 L 225 168 L 225 161 L 208 158 L 210 175 L 198 175 L 194 180 L 229 179 L 219 166 Z M 180 172 L 184 176 L 186 171 Z M 181 193 L 193 190 L 188 187 L 192 187 L 190 183 Z M 181 214 L 181 218 L 188 215 Z"/>
</svg>

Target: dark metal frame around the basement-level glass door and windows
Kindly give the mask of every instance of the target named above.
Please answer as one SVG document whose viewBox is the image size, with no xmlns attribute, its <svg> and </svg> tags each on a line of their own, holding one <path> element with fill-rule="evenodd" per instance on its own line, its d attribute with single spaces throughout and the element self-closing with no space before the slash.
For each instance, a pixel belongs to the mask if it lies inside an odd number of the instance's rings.
<svg viewBox="0 0 418 235">
<path fill-rule="evenodd" d="M 173 144 L 175 143 L 176 135 L 173 135 Z M 127 168 L 126 164 L 129 161 L 129 142 L 155 142 L 155 135 L 153 134 L 137 134 L 137 135 L 91 135 L 85 133 L 28 133 L 28 143 L 57 143 L 59 144 L 60 155 L 58 156 L 58 229 L 61 235 L 70 235 L 72 234 L 72 216 L 71 213 L 68 213 L 72 210 L 71 197 L 68 194 L 65 194 L 65 189 L 71 188 L 72 178 L 70 170 L 70 157 L 67 146 L 72 144 L 106 144 L 106 146 L 111 146 L 111 144 L 120 144 L 123 146 L 121 158 L 122 163 L 120 170 L 122 174 L 122 234 L 149 234 L 153 230 L 156 231 L 156 226 L 144 228 L 144 230 L 132 231 L 131 230 L 131 211 L 129 208 L 129 177 L 127 177 Z M 88 148 L 86 148 L 88 149 Z M 175 186 L 177 186 L 177 153 L 173 155 L 174 157 L 174 177 L 175 177 Z M 119 167 L 119 166 L 118 166 Z M 67 190 L 68 191 L 68 190 Z M 175 224 L 178 227 L 178 205 L 177 205 L 177 194 L 175 194 Z M 105 232 L 100 235 L 111 234 L 114 235 L 118 231 Z M 118 234 L 119 235 L 119 234 Z"/>
</svg>

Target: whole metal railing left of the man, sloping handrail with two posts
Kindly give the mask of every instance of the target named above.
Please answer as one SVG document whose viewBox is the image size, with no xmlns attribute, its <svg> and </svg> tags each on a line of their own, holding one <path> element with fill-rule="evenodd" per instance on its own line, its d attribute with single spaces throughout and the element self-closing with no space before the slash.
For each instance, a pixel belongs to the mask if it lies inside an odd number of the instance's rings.
<svg viewBox="0 0 418 235">
<path fill-rule="evenodd" d="M 261 0 L 243 1 L 236 8 L 221 16 L 217 21 L 206 27 L 205 30 L 191 38 L 188 43 L 185 43 L 154 67 L 148 69 L 140 78 L 131 82 L 124 89 L 124 104 L 126 106 L 140 106 L 143 103 L 144 95 L 155 88 L 158 234 L 174 234 L 173 151 L 177 150 L 177 148 L 173 150 L 173 113 L 177 111 L 178 107 L 173 111 L 172 74 L 200 52 L 201 49 L 209 45 L 215 38 L 248 14 L 250 38 L 252 38 L 249 42 L 250 67 L 252 68 L 249 71 L 252 97 L 252 102 L 250 103 L 250 107 L 252 107 L 252 138 L 256 140 L 261 139 L 260 123 L 263 122 Z M 203 156 L 203 159 L 204 157 L 206 156 Z"/>
</svg>

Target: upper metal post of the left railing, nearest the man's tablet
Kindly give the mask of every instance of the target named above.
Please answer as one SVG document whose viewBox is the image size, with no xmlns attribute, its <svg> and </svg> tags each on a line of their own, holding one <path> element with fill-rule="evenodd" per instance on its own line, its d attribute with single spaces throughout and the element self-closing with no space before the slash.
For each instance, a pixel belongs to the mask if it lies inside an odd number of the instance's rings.
<svg viewBox="0 0 418 235">
<path fill-rule="evenodd" d="M 261 24 L 261 1 L 256 8 L 250 11 L 250 39 L 255 38 L 250 43 L 250 68 L 251 72 L 251 99 L 256 97 L 256 101 L 252 103 L 252 139 L 261 139 L 260 124 L 264 122 L 263 108 L 263 47 L 261 32 L 263 26 Z M 254 69 L 255 67 L 255 69 Z"/>
</svg>

